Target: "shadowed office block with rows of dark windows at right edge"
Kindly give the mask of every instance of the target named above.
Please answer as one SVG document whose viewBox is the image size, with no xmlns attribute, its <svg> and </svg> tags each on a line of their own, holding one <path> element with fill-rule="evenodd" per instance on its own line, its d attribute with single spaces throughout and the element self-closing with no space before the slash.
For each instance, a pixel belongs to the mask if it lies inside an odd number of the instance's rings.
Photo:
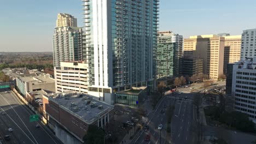
<svg viewBox="0 0 256 144">
<path fill-rule="evenodd" d="M 233 65 L 232 94 L 235 110 L 247 113 L 256 123 L 256 57 Z"/>
</svg>

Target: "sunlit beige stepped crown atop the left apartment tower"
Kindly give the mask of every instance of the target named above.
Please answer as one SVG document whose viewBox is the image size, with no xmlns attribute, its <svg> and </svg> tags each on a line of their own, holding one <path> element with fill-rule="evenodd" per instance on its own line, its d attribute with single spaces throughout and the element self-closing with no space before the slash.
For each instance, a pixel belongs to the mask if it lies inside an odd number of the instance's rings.
<svg viewBox="0 0 256 144">
<path fill-rule="evenodd" d="M 70 14 L 58 14 L 56 27 L 77 27 L 77 19 Z"/>
</svg>

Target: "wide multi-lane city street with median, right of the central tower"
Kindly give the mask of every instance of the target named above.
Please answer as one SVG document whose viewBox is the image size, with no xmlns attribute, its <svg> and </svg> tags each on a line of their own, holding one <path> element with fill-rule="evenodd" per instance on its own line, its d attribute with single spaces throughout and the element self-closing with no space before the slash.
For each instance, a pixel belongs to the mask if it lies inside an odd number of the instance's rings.
<svg viewBox="0 0 256 144">
<path fill-rule="evenodd" d="M 217 82 L 219 86 L 225 84 L 225 82 Z M 161 130 L 161 143 L 170 143 L 166 141 L 166 113 L 161 113 L 161 110 L 166 112 L 165 104 L 174 105 L 175 110 L 171 123 L 171 141 L 172 143 L 196 143 L 197 141 L 197 124 L 198 116 L 196 113 L 196 107 L 193 105 L 193 96 L 198 92 L 202 92 L 204 89 L 203 83 L 195 83 L 189 85 L 189 87 L 177 88 L 180 94 L 172 95 L 170 91 L 166 92 L 166 96 L 158 103 L 154 112 L 148 114 L 149 121 L 146 123 L 149 130 L 140 131 L 138 136 L 135 137 L 133 142 L 135 143 L 160 143 L 160 130 L 159 124 L 163 124 Z M 216 85 L 209 86 L 206 89 L 211 89 Z M 176 98 L 177 97 L 177 98 Z M 187 97 L 187 99 L 185 99 Z M 176 99 L 176 102 L 175 102 Z M 149 141 L 145 141 L 146 136 L 150 136 Z"/>
</svg>

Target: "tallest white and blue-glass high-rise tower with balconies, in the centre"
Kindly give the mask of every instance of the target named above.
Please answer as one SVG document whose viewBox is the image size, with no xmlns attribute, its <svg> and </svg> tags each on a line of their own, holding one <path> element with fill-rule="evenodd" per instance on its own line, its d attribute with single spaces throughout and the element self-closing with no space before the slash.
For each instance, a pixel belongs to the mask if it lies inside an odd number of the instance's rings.
<svg viewBox="0 0 256 144">
<path fill-rule="evenodd" d="M 159 0 L 83 0 L 83 60 L 88 94 L 110 98 L 132 86 L 152 87 Z"/>
</svg>

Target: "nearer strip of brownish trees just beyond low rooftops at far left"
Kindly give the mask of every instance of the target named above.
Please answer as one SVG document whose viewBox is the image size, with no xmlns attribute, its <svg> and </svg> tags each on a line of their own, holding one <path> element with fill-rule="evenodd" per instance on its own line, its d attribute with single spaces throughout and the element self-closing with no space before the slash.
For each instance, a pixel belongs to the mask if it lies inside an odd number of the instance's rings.
<svg viewBox="0 0 256 144">
<path fill-rule="evenodd" d="M 28 69 L 45 69 L 45 68 L 50 68 L 53 69 L 53 64 L 7 64 L 7 63 L 2 63 L 0 64 L 0 70 L 5 69 L 5 68 L 28 68 Z"/>
</svg>

